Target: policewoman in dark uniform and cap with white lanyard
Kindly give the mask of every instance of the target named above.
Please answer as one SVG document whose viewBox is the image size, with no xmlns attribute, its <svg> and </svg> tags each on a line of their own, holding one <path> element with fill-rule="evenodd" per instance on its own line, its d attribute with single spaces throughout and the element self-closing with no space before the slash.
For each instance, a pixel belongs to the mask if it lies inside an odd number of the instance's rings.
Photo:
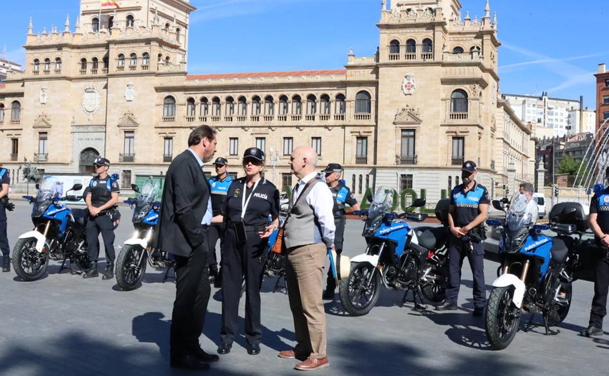
<svg viewBox="0 0 609 376">
<path fill-rule="evenodd" d="M 264 152 L 250 147 L 243 155 L 245 177 L 228 188 L 222 243 L 222 344 L 227 354 L 237 330 L 241 283 L 245 277 L 245 339 L 247 353 L 260 353 L 260 287 L 270 234 L 278 227 L 279 191 L 262 177 Z M 269 225 L 269 215 L 273 219 Z"/>
</svg>

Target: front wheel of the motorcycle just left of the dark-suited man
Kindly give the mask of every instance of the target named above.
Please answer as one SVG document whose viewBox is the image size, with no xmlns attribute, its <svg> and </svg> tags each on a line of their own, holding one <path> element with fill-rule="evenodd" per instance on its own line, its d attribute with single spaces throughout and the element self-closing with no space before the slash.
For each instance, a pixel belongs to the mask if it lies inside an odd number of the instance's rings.
<svg viewBox="0 0 609 376">
<path fill-rule="evenodd" d="M 142 252 L 146 252 L 146 249 L 141 246 L 127 245 L 116 258 L 116 283 L 125 291 L 141 286 L 148 258 L 147 252 L 144 255 Z"/>
</svg>

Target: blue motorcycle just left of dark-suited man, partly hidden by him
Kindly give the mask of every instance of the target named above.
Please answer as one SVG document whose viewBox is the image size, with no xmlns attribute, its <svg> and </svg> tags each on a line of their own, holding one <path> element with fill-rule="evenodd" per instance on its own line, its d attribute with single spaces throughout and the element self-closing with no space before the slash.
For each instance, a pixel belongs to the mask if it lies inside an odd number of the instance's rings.
<svg viewBox="0 0 609 376">
<path fill-rule="evenodd" d="M 139 193 L 139 196 L 124 202 L 133 208 L 132 222 L 135 232 L 125 241 L 116 258 L 116 283 L 125 291 L 132 291 L 141 286 L 146 264 L 157 270 L 166 269 L 164 282 L 175 263 L 167 257 L 167 252 L 152 246 L 161 208 L 161 203 L 155 201 L 160 183 L 149 178 L 144 182 L 141 191 L 135 184 L 132 184 L 132 189 Z"/>
</svg>

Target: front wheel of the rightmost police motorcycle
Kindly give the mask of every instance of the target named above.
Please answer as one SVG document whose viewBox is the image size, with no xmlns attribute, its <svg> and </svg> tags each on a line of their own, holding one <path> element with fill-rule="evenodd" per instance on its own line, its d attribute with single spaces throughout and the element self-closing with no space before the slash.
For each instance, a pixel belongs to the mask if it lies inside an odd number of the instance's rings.
<svg viewBox="0 0 609 376">
<path fill-rule="evenodd" d="M 518 332 L 520 308 L 512 302 L 514 291 L 514 286 L 496 287 L 488 298 L 484 326 L 493 350 L 505 349 Z"/>
</svg>

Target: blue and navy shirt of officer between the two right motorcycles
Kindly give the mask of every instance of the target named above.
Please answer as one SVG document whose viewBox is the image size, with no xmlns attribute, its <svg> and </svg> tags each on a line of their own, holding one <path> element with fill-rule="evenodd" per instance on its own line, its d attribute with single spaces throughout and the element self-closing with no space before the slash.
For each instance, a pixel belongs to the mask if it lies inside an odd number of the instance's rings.
<svg viewBox="0 0 609 376">
<path fill-rule="evenodd" d="M 451 205 L 455 207 L 452 217 L 456 227 L 470 224 L 480 214 L 479 205 L 490 204 L 488 191 L 483 185 L 474 182 L 474 187 L 465 193 L 465 184 L 457 185 L 451 194 Z"/>
</svg>

